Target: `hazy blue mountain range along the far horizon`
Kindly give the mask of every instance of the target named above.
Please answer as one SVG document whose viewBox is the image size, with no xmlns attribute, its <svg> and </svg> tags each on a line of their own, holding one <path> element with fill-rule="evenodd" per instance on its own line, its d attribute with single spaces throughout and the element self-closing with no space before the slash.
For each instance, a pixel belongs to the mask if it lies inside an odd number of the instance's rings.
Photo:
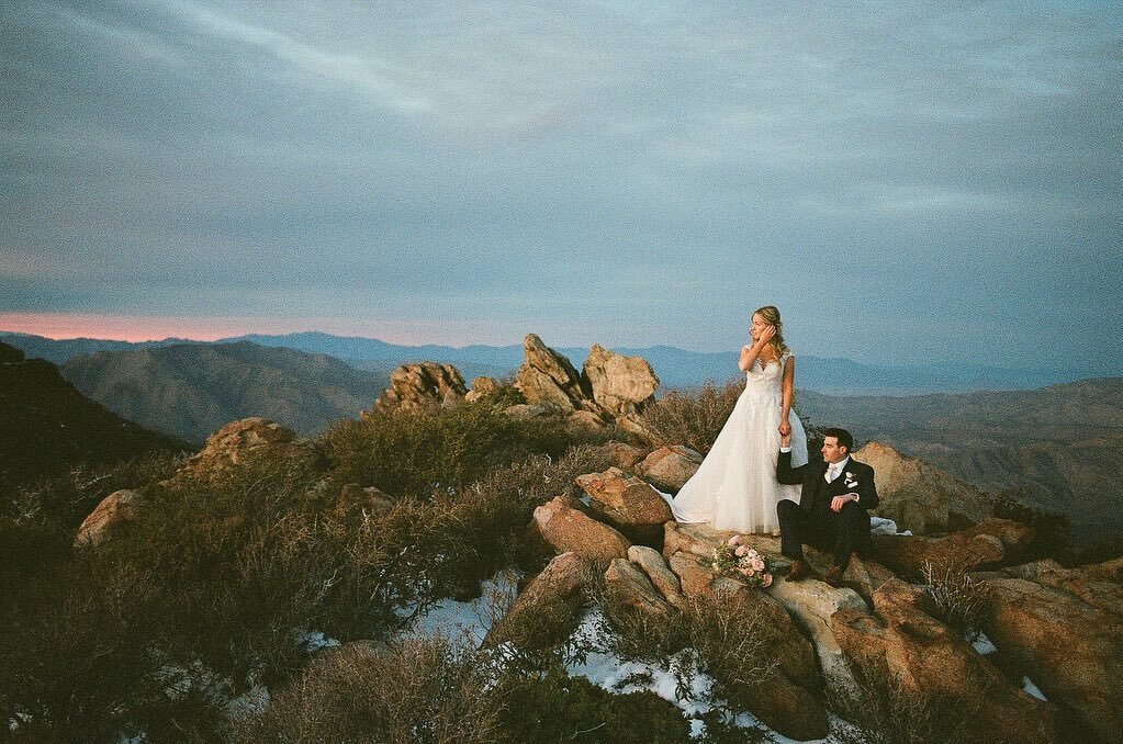
<svg viewBox="0 0 1123 744">
<path fill-rule="evenodd" d="M 340 337 L 314 331 L 284 336 L 250 334 L 213 342 L 166 339 L 140 343 L 95 339 L 55 341 L 37 336 L 0 331 L 0 340 L 22 349 L 29 357 L 39 357 L 58 365 L 75 356 L 95 351 L 150 349 L 184 343 L 218 346 L 241 341 L 263 347 L 328 355 L 353 367 L 382 373 L 389 373 L 407 362 L 440 361 L 455 366 L 466 380 L 481 375 L 502 377 L 513 373 L 522 364 L 521 345 L 410 347 L 386 343 L 377 339 Z M 548 339 L 546 341 L 549 342 Z M 584 348 L 555 348 L 569 357 L 578 368 L 588 355 L 588 349 Z M 647 359 L 655 368 L 664 388 L 693 387 L 706 380 L 724 382 L 739 376 L 737 350 L 700 352 L 668 346 L 618 347 L 613 350 Z M 975 389 L 1028 389 L 1102 375 L 1078 368 L 1006 369 L 988 365 L 961 364 L 879 366 L 811 356 L 797 357 L 796 369 L 798 387 L 833 395 L 913 395 Z"/>
</svg>

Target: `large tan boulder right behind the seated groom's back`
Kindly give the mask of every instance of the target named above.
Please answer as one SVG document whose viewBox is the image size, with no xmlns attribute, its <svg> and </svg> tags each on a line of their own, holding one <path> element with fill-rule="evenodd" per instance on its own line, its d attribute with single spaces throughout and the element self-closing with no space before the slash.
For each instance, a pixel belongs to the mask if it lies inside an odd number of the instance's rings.
<svg viewBox="0 0 1123 744">
<path fill-rule="evenodd" d="M 978 488 L 928 462 L 869 442 L 855 459 L 874 468 L 879 505 L 875 514 L 900 530 L 930 534 L 962 530 L 994 513 L 993 499 Z"/>
</svg>

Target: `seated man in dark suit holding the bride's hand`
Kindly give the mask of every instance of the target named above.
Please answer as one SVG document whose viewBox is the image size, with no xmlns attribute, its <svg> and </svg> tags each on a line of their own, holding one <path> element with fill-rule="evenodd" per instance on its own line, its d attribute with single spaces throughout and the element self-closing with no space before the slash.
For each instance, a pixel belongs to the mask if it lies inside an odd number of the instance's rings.
<svg viewBox="0 0 1123 744">
<path fill-rule="evenodd" d="M 776 479 L 803 485 L 800 503 L 785 498 L 776 505 L 779 516 L 780 552 L 792 559 L 788 581 L 813 573 L 803 560 L 803 545 L 814 544 L 834 552 L 834 563 L 823 577 L 839 586 L 842 571 L 855 550 L 869 541 L 869 513 L 877 508 L 874 469 L 850 457 L 853 437 L 846 429 L 828 429 L 823 439 L 823 461 L 792 467 L 792 435 L 780 437 Z"/>
</svg>

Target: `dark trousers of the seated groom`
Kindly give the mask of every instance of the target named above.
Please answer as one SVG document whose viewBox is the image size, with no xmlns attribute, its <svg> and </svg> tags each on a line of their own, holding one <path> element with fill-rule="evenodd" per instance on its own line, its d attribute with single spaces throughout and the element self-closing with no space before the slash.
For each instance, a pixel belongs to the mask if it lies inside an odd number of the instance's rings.
<svg viewBox="0 0 1123 744">
<path fill-rule="evenodd" d="M 855 550 L 865 548 L 869 534 L 868 517 L 856 502 L 847 502 L 841 512 L 810 511 L 789 498 L 776 505 L 779 517 L 780 552 L 803 560 L 803 546 L 815 545 L 834 553 L 834 564 L 846 568 Z"/>
</svg>

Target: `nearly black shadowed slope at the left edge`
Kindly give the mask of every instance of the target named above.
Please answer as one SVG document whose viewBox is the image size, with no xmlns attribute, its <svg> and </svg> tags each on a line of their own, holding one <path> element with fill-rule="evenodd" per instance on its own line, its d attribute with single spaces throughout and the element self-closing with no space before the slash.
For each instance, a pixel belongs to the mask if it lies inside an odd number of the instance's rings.
<svg viewBox="0 0 1123 744">
<path fill-rule="evenodd" d="M 65 472 L 80 462 L 111 465 L 188 442 L 125 421 L 82 395 L 43 359 L 0 343 L 0 490 Z"/>
</svg>

